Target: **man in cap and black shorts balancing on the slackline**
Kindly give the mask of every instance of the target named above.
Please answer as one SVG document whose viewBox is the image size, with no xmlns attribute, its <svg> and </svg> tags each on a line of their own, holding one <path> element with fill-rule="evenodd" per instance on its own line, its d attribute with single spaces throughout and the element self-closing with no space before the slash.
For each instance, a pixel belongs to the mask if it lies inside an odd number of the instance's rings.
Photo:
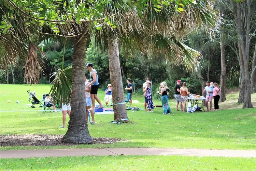
<svg viewBox="0 0 256 171">
<path fill-rule="evenodd" d="M 89 108 L 88 110 L 94 110 L 95 109 L 95 100 L 99 103 L 99 108 L 102 108 L 103 105 L 100 102 L 100 99 L 97 96 L 98 93 L 98 88 L 99 88 L 99 78 L 98 78 L 98 74 L 97 71 L 95 69 L 93 69 L 93 64 L 92 63 L 87 63 L 86 65 L 87 69 L 90 70 L 90 80 L 91 83 L 88 84 L 86 87 L 91 87 L 91 91 L 90 91 L 90 97 L 91 97 L 91 102 L 92 102 L 92 107 Z"/>
</svg>

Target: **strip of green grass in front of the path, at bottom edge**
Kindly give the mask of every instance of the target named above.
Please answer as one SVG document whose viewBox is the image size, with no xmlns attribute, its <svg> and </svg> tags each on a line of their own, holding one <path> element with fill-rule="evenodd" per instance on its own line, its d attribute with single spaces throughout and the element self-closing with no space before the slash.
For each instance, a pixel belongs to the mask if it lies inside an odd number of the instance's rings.
<svg viewBox="0 0 256 171">
<path fill-rule="evenodd" d="M 83 156 L 1 159 L 0 170 L 255 170 L 255 158 L 189 156 Z"/>
</svg>

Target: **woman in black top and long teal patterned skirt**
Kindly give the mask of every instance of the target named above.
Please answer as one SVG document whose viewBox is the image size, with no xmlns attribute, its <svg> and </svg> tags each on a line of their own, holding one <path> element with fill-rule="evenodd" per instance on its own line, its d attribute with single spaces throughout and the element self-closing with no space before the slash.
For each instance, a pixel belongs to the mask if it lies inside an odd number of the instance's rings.
<svg viewBox="0 0 256 171">
<path fill-rule="evenodd" d="M 159 90 L 160 91 L 157 91 L 157 93 L 159 95 L 162 95 L 161 100 L 162 100 L 162 106 L 163 106 L 163 114 L 168 115 L 168 114 L 172 113 L 172 111 L 168 104 L 168 95 L 169 95 L 170 90 L 169 90 L 169 87 L 167 87 L 167 83 L 162 82 L 160 84 Z"/>
</svg>

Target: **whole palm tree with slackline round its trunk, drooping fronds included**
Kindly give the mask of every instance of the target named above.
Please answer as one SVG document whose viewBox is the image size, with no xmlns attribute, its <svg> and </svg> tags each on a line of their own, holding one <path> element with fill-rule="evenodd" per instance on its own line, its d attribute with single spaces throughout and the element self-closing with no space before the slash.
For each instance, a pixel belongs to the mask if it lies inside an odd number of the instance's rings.
<svg viewBox="0 0 256 171">
<path fill-rule="evenodd" d="M 158 56 L 160 53 L 166 60 L 174 64 L 183 64 L 187 69 L 196 68 L 199 63 L 200 53 L 187 47 L 179 38 L 188 31 L 204 26 L 213 31 L 218 21 L 217 12 L 213 10 L 212 1 L 200 0 L 196 5 L 186 6 L 186 12 L 179 14 L 175 10 L 175 4 L 163 6 L 161 12 L 155 11 L 152 1 L 140 17 L 138 11 L 133 8 L 119 10 L 114 3 L 109 4 L 104 11 L 105 16 L 110 12 L 116 12 L 108 23 L 102 22 L 102 32 L 96 31 L 96 42 L 100 47 L 105 46 L 109 52 L 109 68 L 112 87 L 113 103 L 124 102 L 121 69 L 119 63 L 118 45 L 125 49 L 140 50 L 148 56 Z M 125 17 L 124 17 L 125 16 Z M 109 27 L 111 24 L 119 24 L 118 29 Z M 114 119 L 127 118 L 124 104 L 114 106 Z"/>
</svg>

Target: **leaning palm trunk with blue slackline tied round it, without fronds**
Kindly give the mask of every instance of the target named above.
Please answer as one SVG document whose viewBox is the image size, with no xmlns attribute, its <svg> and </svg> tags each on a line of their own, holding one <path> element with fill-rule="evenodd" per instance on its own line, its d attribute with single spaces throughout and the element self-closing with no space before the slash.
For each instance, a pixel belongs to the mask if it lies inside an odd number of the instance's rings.
<svg viewBox="0 0 256 171">
<path fill-rule="evenodd" d="M 112 100 L 113 104 L 124 102 L 124 88 L 121 75 L 120 61 L 119 61 L 119 49 L 116 39 L 108 40 L 108 52 L 109 52 L 109 72 L 112 85 Z M 120 119 L 126 119 L 127 111 L 125 104 L 114 105 L 114 120 L 117 122 Z"/>
</svg>

